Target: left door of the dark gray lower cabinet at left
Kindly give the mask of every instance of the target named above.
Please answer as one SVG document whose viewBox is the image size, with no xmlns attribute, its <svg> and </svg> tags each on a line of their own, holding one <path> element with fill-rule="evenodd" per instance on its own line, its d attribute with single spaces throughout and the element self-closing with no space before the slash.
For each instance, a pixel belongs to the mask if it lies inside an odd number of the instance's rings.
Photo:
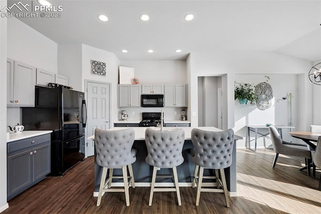
<svg viewBox="0 0 321 214">
<path fill-rule="evenodd" d="M 8 156 L 8 198 L 32 184 L 32 156 L 31 149 Z"/>
</svg>

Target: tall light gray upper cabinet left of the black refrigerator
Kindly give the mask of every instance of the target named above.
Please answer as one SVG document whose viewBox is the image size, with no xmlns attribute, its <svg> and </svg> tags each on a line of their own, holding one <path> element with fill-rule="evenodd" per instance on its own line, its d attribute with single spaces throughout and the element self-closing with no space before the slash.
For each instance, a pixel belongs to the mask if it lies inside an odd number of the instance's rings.
<svg viewBox="0 0 321 214">
<path fill-rule="evenodd" d="M 25 63 L 7 60 L 7 105 L 35 105 L 36 68 Z"/>
</svg>

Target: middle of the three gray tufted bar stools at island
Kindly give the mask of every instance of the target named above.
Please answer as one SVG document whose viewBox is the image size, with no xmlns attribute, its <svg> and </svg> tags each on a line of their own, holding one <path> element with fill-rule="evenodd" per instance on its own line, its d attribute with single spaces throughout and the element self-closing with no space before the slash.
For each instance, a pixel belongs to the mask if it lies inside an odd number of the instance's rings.
<svg viewBox="0 0 321 214">
<path fill-rule="evenodd" d="M 180 187 L 176 167 L 184 162 L 182 150 L 185 141 L 185 132 L 183 129 L 173 131 L 156 131 L 146 129 L 145 142 L 147 147 L 146 163 L 153 166 L 151 188 L 149 194 L 149 203 L 151 206 L 154 192 L 176 191 L 178 203 L 181 206 Z M 172 168 L 174 174 L 175 187 L 158 187 L 155 188 L 157 178 L 173 177 L 172 175 L 156 176 L 157 168 Z"/>
</svg>

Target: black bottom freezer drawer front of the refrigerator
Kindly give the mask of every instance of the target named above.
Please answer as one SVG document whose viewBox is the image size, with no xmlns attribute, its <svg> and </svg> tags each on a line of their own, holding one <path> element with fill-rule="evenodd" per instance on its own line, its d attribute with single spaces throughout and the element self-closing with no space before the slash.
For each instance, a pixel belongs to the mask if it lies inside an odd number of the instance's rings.
<svg viewBox="0 0 321 214">
<path fill-rule="evenodd" d="M 85 136 L 63 142 L 63 173 L 85 158 Z"/>
</svg>

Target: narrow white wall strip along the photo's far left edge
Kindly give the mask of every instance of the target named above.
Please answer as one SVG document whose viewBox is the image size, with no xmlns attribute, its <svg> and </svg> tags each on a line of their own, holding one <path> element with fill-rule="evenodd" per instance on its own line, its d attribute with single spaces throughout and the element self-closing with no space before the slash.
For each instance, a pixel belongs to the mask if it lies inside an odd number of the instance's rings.
<svg viewBox="0 0 321 214">
<path fill-rule="evenodd" d="M 0 1 L 5 8 L 7 1 Z M 0 99 L 7 100 L 7 18 L 0 19 Z M 0 102 L 0 212 L 9 207 L 7 203 L 7 103 Z"/>
</svg>

